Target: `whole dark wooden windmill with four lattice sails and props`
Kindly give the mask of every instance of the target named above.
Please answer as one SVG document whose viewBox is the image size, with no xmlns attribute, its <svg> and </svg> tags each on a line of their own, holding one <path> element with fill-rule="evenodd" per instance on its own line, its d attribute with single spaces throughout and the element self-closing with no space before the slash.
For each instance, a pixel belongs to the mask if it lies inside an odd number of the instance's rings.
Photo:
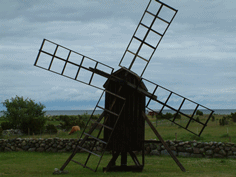
<svg viewBox="0 0 236 177">
<path fill-rule="evenodd" d="M 169 121 L 197 136 L 202 134 L 214 111 L 142 77 L 176 13 L 176 9 L 163 2 L 150 0 L 120 60 L 120 69 L 117 71 L 62 45 L 47 39 L 43 40 L 34 63 L 35 66 L 102 90 L 80 140 L 60 168 L 61 171 L 72 161 L 96 172 L 105 151 L 112 152 L 110 162 L 103 168 L 105 172 L 142 171 L 145 142 L 161 142 L 180 169 L 185 171 L 146 116 L 145 111 L 150 110 L 161 115 L 163 110 L 169 109 L 175 113 L 168 119 Z M 153 44 L 153 39 L 156 39 L 155 44 Z M 135 68 L 139 69 L 139 74 Z M 105 79 L 102 86 L 97 85 L 96 77 Z M 186 113 L 183 110 L 188 106 L 192 108 L 192 111 Z M 204 121 L 194 117 L 196 112 L 202 109 L 209 115 Z M 95 120 L 92 116 L 96 110 L 103 112 Z M 179 115 L 183 117 L 182 122 L 178 120 Z M 145 121 L 159 141 L 145 140 Z M 89 127 L 91 122 L 92 127 Z M 196 128 L 194 125 L 200 127 L 197 132 L 194 130 Z M 100 138 L 100 135 L 103 138 Z M 92 147 L 86 147 L 84 145 L 86 141 L 91 141 Z M 101 153 L 94 150 L 97 144 L 101 147 Z M 78 151 L 88 152 L 84 163 L 75 160 Z M 137 151 L 142 152 L 142 163 L 136 156 Z M 128 154 L 135 165 L 127 165 Z M 120 165 L 116 165 L 118 157 L 121 158 Z M 94 162 L 94 158 L 97 158 L 95 169 L 88 166 L 89 160 L 92 159 Z"/>
</svg>

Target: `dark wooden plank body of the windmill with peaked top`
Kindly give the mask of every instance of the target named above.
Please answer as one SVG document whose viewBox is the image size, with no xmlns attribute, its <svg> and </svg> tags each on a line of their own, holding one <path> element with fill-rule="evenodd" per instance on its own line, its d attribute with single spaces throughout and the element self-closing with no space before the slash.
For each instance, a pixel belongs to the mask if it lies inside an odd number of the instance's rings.
<svg viewBox="0 0 236 177">
<path fill-rule="evenodd" d="M 124 68 L 119 69 L 114 72 L 113 75 L 123 80 L 123 82 L 129 82 L 135 86 L 139 86 L 140 89 L 147 91 L 147 88 L 140 81 L 140 77 Z M 113 157 L 116 153 L 121 153 L 121 166 L 111 167 L 109 171 L 119 169 L 122 171 L 140 171 L 143 165 L 139 163 L 136 167 L 127 166 L 127 153 L 131 155 L 132 158 L 136 158 L 133 151 L 142 151 L 144 149 L 144 132 L 145 132 L 145 120 L 142 113 L 145 112 L 145 95 L 141 92 L 135 91 L 135 89 L 123 84 L 119 90 L 122 83 L 117 81 L 109 81 L 104 84 L 104 87 L 115 94 L 126 99 L 125 106 L 120 115 L 119 120 L 116 123 L 116 116 L 110 114 L 105 121 L 105 125 L 109 127 L 116 127 L 112 133 L 109 129 L 104 129 L 104 140 L 109 142 L 107 145 L 107 150 L 113 151 Z M 105 97 L 105 108 L 109 109 L 109 106 L 114 101 L 113 97 L 106 93 Z M 115 102 L 112 108 L 112 112 L 119 112 L 121 110 L 121 105 L 119 101 Z M 116 125 L 115 125 L 116 124 Z M 112 133 L 112 136 L 110 137 Z M 110 137 L 110 140 L 109 140 Z M 134 157 L 135 156 L 135 157 Z"/>
</svg>

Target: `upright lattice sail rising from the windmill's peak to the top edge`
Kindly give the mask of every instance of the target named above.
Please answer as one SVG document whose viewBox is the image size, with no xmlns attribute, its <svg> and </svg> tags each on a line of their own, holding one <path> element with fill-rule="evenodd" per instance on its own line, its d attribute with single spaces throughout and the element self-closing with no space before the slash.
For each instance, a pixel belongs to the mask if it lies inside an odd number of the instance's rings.
<svg viewBox="0 0 236 177">
<path fill-rule="evenodd" d="M 141 70 L 141 74 L 138 73 L 139 76 L 143 76 L 153 54 L 155 53 L 158 45 L 160 44 L 163 36 L 165 35 L 167 29 L 169 28 L 171 22 L 173 21 L 176 13 L 178 12 L 178 10 L 170 7 L 169 5 L 161 2 L 161 1 L 157 1 L 155 0 L 155 3 L 159 3 L 160 7 L 157 10 L 157 13 L 153 13 L 150 12 L 149 10 L 149 6 L 151 4 L 152 0 L 150 0 L 146 10 L 144 11 L 144 14 L 128 44 L 128 47 L 126 48 L 126 51 L 124 52 L 119 66 L 120 67 L 126 67 L 129 70 L 132 70 L 132 67 L 135 65 L 142 65 L 143 70 Z M 167 20 L 161 17 L 162 13 L 162 9 L 168 9 L 169 11 L 173 12 L 172 17 Z M 145 16 L 151 16 L 153 18 L 153 20 L 151 21 L 151 24 L 145 24 L 145 21 L 143 19 L 145 19 Z M 156 23 L 164 23 L 166 24 L 164 30 L 162 32 L 157 31 L 155 29 L 153 29 L 156 26 Z M 143 29 L 146 30 L 144 37 L 138 36 L 138 32 L 141 31 Z M 159 39 L 157 39 L 156 41 L 156 45 L 150 44 L 150 42 L 148 41 L 148 36 L 151 35 L 157 35 L 159 36 Z M 139 60 L 139 61 L 137 61 Z M 137 64 L 136 64 L 137 63 Z M 144 64 L 143 64 L 144 63 Z M 138 66 L 140 67 L 140 66 Z M 139 69 L 140 70 L 140 69 Z M 133 72 L 134 71 L 132 70 Z"/>
</svg>

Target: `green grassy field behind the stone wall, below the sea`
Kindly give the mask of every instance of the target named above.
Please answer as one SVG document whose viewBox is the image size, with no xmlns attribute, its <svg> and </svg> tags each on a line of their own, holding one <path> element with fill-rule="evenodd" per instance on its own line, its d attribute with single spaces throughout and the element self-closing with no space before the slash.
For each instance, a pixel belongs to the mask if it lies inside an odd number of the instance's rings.
<svg viewBox="0 0 236 177">
<path fill-rule="evenodd" d="M 201 121 L 206 120 L 205 116 L 200 116 Z M 179 128 L 175 124 L 171 124 L 168 120 L 161 120 L 157 122 L 156 126 L 156 119 L 150 118 L 150 120 L 153 122 L 155 127 L 157 128 L 158 132 L 161 134 L 164 140 L 175 140 L 177 135 L 177 140 L 182 141 L 191 141 L 191 140 L 197 140 L 197 141 L 204 141 L 204 142 L 210 142 L 210 141 L 216 141 L 216 142 L 231 142 L 236 143 L 236 123 L 230 121 L 228 125 L 220 126 L 219 125 L 219 119 L 221 119 L 223 115 L 215 115 L 215 121 L 209 121 L 207 127 L 204 129 L 201 137 L 195 136 L 188 131 Z M 1 121 L 1 120 L 0 120 Z M 51 123 L 54 125 L 58 125 L 59 121 L 48 121 L 47 123 Z M 187 122 L 184 121 L 184 118 L 181 120 L 178 120 L 177 123 L 185 125 Z M 200 132 L 201 126 L 194 122 L 191 123 L 191 130 L 195 133 Z M 77 132 L 72 135 L 68 135 L 68 132 L 63 132 L 62 130 L 59 130 L 58 134 L 41 134 L 41 135 L 35 135 L 33 136 L 20 136 L 21 138 L 53 138 L 53 137 L 59 137 L 59 138 L 78 138 L 80 137 L 82 131 Z M 94 132 L 96 133 L 96 132 Z M 16 136 L 4 136 L 1 138 L 16 138 Z M 102 137 L 100 137 L 102 138 Z M 145 138 L 146 139 L 156 139 L 156 136 L 154 135 L 151 128 L 146 125 L 145 126 Z"/>
</svg>

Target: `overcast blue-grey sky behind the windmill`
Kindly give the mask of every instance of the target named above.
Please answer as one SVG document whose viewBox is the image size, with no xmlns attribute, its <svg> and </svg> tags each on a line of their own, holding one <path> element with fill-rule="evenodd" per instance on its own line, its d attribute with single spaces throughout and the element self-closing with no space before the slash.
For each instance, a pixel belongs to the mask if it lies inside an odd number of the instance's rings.
<svg viewBox="0 0 236 177">
<path fill-rule="evenodd" d="M 210 109 L 235 109 L 236 1 L 163 2 L 178 13 L 143 77 Z M 117 70 L 148 3 L 0 0 L 0 102 L 18 95 L 45 110 L 93 109 L 101 90 L 34 66 L 43 39 Z"/>
</svg>

